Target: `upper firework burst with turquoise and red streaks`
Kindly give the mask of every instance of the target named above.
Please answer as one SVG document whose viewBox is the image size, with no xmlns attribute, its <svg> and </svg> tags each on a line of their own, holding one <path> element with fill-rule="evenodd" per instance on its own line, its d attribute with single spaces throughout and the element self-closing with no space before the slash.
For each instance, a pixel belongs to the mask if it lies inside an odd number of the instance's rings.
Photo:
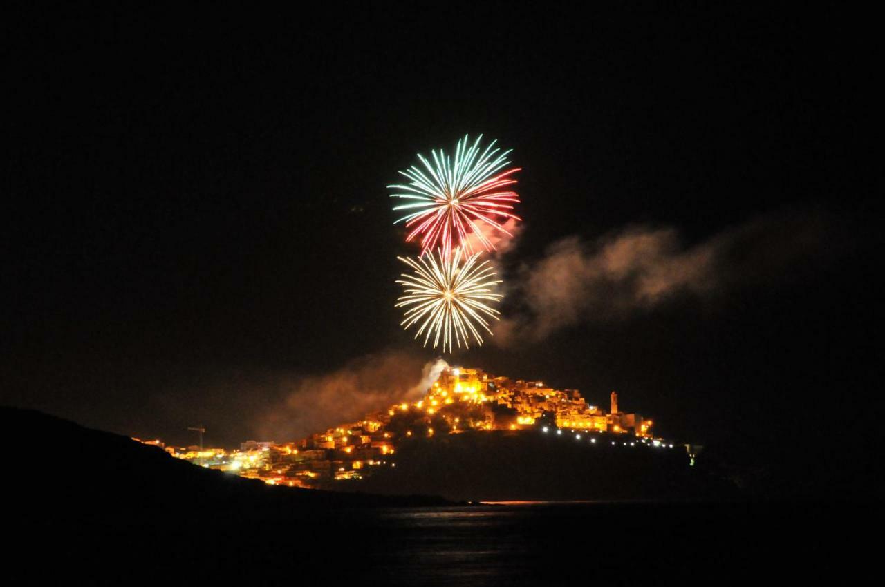
<svg viewBox="0 0 885 587">
<path fill-rule="evenodd" d="M 481 150 L 481 139 L 482 135 L 472 146 L 468 146 L 467 135 L 458 141 L 454 163 L 442 149 L 430 152 L 433 163 L 419 154 L 425 169 L 412 165 L 400 172 L 410 179 L 408 185 L 388 186 L 397 190 L 390 197 L 414 201 L 394 207 L 409 210 L 394 224 L 404 222 L 410 229 L 406 242 L 420 237 L 421 256 L 434 248 L 449 253 L 455 247 L 463 247 L 472 254 L 469 234 L 475 235 L 487 251 L 494 250 L 495 245 L 481 231 L 481 223 L 512 236 L 504 222 L 521 219 L 510 211 L 512 204 L 519 202 L 519 195 L 507 189 L 516 183 L 511 176 L 519 168 L 505 170 L 510 164 L 510 151 L 496 148 L 496 141 Z"/>
</svg>

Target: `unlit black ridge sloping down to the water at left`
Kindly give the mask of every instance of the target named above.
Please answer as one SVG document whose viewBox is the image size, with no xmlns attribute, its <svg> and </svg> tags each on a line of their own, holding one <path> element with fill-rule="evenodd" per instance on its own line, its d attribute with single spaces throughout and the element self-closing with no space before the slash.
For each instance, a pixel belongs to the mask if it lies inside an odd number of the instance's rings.
<svg viewBox="0 0 885 587">
<path fill-rule="evenodd" d="M 6 483 L 31 521 L 117 524 L 124 516 L 265 517 L 317 508 L 438 506 L 427 496 L 377 496 L 272 487 L 180 461 L 156 446 L 35 410 L 0 408 L 4 446 L 20 454 Z"/>
</svg>

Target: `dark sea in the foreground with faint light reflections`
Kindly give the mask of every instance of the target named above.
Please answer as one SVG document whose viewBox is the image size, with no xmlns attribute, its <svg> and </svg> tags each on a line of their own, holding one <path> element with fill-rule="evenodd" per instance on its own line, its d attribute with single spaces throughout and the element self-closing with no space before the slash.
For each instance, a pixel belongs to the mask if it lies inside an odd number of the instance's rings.
<svg viewBox="0 0 885 587">
<path fill-rule="evenodd" d="M 845 581 L 878 543 L 863 531 L 878 527 L 874 512 L 836 503 L 532 503 L 243 520 L 219 511 L 115 530 L 86 524 L 68 544 L 67 569 L 94 583 L 154 584 Z"/>
</svg>

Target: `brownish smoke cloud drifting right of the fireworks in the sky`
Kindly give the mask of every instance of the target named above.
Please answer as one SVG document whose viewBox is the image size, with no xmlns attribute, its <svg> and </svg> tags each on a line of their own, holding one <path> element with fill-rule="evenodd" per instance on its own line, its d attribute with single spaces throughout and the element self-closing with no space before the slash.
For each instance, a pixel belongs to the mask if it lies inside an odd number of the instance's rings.
<svg viewBox="0 0 885 587">
<path fill-rule="evenodd" d="M 514 317 L 496 324 L 496 344 L 540 340 L 587 322 L 612 321 L 677 296 L 707 298 L 778 277 L 822 252 L 825 225 L 815 215 L 766 217 L 694 246 L 671 228 L 629 227 L 595 243 L 569 237 L 518 272 Z"/>
</svg>

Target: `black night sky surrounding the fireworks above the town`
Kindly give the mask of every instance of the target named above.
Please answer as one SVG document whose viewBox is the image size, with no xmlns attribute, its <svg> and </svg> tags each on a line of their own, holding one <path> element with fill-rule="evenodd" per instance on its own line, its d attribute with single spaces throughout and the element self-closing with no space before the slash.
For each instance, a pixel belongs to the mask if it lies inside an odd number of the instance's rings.
<svg viewBox="0 0 885 587">
<path fill-rule="evenodd" d="M 854 151 L 874 68 L 842 11 L 5 27 L 2 403 L 178 444 L 204 423 L 230 446 L 273 433 L 262 420 L 304 377 L 434 359 L 393 308 L 396 255 L 416 249 L 386 186 L 417 152 L 484 133 L 523 168 L 505 317 L 531 314 L 526 284 L 563 240 L 589 258 L 665 231 L 667 258 L 716 263 L 653 302 L 596 284 L 550 332 L 535 316 L 453 362 L 603 406 L 618 390 L 660 433 L 827 469 L 829 486 L 866 470 L 881 207 Z"/>
</svg>

